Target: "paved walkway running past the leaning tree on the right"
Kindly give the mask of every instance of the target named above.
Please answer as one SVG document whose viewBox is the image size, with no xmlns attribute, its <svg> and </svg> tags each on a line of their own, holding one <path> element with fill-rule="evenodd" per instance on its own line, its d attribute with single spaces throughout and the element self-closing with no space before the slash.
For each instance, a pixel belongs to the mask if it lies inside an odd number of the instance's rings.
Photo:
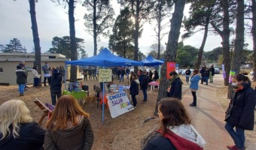
<svg viewBox="0 0 256 150">
<path fill-rule="evenodd" d="M 224 128 L 225 110 L 218 103 L 216 96 L 217 88 L 221 84 L 224 84 L 221 78 L 214 78 L 214 83 L 209 83 L 209 86 L 200 84 L 197 91 L 197 107 L 189 106 L 193 101 L 190 90 L 187 90 L 182 98 L 182 103 L 192 118 L 192 124 L 206 140 L 206 150 L 224 150 L 227 145 L 233 145 L 233 139 Z"/>
</svg>

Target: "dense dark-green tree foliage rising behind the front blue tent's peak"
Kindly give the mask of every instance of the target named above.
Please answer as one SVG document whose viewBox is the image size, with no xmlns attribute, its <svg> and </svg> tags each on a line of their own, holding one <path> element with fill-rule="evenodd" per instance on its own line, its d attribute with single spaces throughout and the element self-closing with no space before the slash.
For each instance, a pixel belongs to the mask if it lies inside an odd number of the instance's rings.
<svg viewBox="0 0 256 150">
<path fill-rule="evenodd" d="M 120 10 L 120 15 L 118 15 L 112 29 L 113 34 L 109 36 L 109 48 L 124 58 L 126 58 L 126 53 L 133 54 L 135 27 L 132 18 L 128 7 Z"/>
</svg>

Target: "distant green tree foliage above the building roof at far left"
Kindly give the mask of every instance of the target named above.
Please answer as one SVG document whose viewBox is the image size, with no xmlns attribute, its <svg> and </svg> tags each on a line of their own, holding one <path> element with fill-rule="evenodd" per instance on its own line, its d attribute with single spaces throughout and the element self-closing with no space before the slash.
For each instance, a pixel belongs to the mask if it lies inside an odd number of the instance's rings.
<svg viewBox="0 0 256 150">
<path fill-rule="evenodd" d="M 26 52 L 26 49 L 23 48 L 22 44 L 20 43 L 20 40 L 17 38 L 13 38 L 10 40 L 10 43 L 6 44 L 5 46 L 2 46 L 1 49 L 2 52 Z"/>
</svg>

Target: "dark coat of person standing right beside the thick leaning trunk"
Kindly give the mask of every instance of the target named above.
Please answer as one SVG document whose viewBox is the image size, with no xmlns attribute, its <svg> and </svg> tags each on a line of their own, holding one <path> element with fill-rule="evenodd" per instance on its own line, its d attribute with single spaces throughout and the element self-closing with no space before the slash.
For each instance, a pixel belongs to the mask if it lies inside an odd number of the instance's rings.
<svg viewBox="0 0 256 150">
<path fill-rule="evenodd" d="M 168 94 L 168 97 L 170 98 L 178 98 L 181 100 L 182 95 L 182 81 L 178 77 L 172 82 L 171 90 Z"/>
</svg>

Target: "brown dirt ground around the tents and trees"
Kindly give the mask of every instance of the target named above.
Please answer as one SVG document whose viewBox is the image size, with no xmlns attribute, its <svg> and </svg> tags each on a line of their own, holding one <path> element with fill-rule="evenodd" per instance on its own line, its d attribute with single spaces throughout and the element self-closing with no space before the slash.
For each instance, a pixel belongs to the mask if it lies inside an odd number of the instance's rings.
<svg viewBox="0 0 256 150">
<path fill-rule="evenodd" d="M 181 77 L 184 80 L 184 77 Z M 128 85 L 127 80 L 124 83 L 114 80 L 115 84 Z M 94 96 L 93 85 L 99 86 L 97 80 L 85 81 L 85 85 L 89 86 L 89 96 Z M 256 83 L 254 83 L 256 86 Z M 254 87 L 253 86 L 253 87 Z M 33 101 L 38 98 L 42 103 L 51 103 L 50 100 L 50 87 L 42 86 L 39 89 L 35 89 L 32 85 L 25 92 L 25 96 L 20 97 L 17 86 L 0 86 L 0 104 L 11 99 L 20 99 L 26 103 L 26 106 L 31 110 L 32 118 L 35 121 L 39 121 L 42 115 L 42 111 L 35 105 Z M 62 85 L 64 89 L 64 84 Z M 187 92 L 188 87 L 184 88 L 183 94 Z M 150 87 L 148 89 L 150 91 Z M 126 149 L 140 149 L 140 141 L 148 131 L 152 128 L 157 127 L 160 122 L 158 118 L 152 119 L 142 123 L 146 118 L 154 116 L 154 107 L 157 99 L 157 90 L 148 93 L 148 102 L 141 104 L 142 92 L 136 96 L 138 106 L 135 110 L 118 116 L 117 118 L 111 118 L 108 109 L 105 109 L 105 119 L 102 123 L 102 110 L 97 108 L 97 101 L 90 101 L 91 98 L 87 99 L 87 103 L 84 106 L 84 110 L 90 113 L 90 123 L 93 126 L 95 139 L 93 143 L 93 150 L 126 150 Z M 227 101 L 227 87 L 221 86 L 216 95 L 218 95 L 218 101 L 224 107 L 227 108 L 229 101 Z M 89 102 L 88 102 L 89 101 Z M 45 118 L 42 127 L 45 127 Z M 256 141 L 255 131 L 246 131 L 246 141 L 249 145 L 250 142 Z M 250 148 L 248 148 L 250 149 Z M 252 148 L 253 149 L 253 148 Z"/>
</svg>

